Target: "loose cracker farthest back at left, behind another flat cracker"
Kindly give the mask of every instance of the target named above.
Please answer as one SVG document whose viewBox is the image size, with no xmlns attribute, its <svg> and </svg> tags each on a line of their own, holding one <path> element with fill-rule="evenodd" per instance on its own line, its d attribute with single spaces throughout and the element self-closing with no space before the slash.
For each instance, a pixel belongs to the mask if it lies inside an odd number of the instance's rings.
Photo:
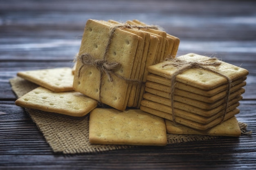
<svg viewBox="0 0 256 170">
<path fill-rule="evenodd" d="M 72 74 L 72 68 L 61 67 L 20 71 L 17 75 L 54 92 L 73 91 L 74 75 Z"/>
</svg>

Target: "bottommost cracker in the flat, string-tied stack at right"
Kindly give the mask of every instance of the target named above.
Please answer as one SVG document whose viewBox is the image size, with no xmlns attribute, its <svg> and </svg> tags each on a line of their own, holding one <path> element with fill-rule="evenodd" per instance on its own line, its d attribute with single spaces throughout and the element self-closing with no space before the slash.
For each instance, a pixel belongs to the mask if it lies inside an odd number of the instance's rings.
<svg viewBox="0 0 256 170">
<path fill-rule="evenodd" d="M 142 105 L 140 106 L 140 109 L 143 110 L 144 112 L 151 113 L 153 115 L 156 115 L 156 116 L 168 119 L 168 120 L 172 120 L 172 116 L 168 113 L 161 112 L 159 110 L 148 108 L 148 107 L 145 107 L 145 106 L 142 106 Z M 235 108 L 234 110 L 231 110 L 230 112 L 228 112 L 225 115 L 224 120 L 227 120 L 227 119 L 233 117 L 234 115 L 238 114 L 239 112 L 240 112 L 240 110 L 238 108 Z M 178 117 L 178 116 L 175 117 L 175 120 L 176 120 L 176 122 L 179 122 L 179 124 L 182 124 L 184 126 L 188 126 L 188 127 L 199 129 L 199 130 L 207 130 L 209 128 L 212 128 L 213 126 L 216 126 L 217 124 L 220 124 L 221 121 L 222 121 L 222 118 L 223 118 L 223 116 L 220 116 L 217 119 L 211 121 L 211 123 L 209 123 L 209 124 L 199 124 L 199 123 L 196 123 L 194 121 L 184 119 L 184 118 L 181 118 L 181 117 Z"/>
</svg>

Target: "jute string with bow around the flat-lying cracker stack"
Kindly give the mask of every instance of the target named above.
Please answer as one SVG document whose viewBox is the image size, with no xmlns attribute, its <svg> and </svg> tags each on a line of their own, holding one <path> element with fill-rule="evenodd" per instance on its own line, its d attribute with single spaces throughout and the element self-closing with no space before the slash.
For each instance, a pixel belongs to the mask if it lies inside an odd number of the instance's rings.
<svg viewBox="0 0 256 170">
<path fill-rule="evenodd" d="M 228 81 L 228 87 L 227 87 L 227 94 L 226 94 L 226 100 L 225 100 L 225 108 L 224 108 L 224 114 L 222 117 L 222 121 L 224 121 L 225 119 L 225 115 L 227 114 L 227 108 L 229 106 L 229 95 L 230 95 L 230 88 L 231 88 L 231 79 L 229 77 L 227 77 L 226 75 L 219 73 L 218 71 L 209 68 L 209 66 L 213 66 L 213 67 L 217 67 L 220 66 L 221 62 L 218 61 L 217 58 L 209 58 L 206 60 L 202 60 L 202 61 L 186 61 L 186 60 L 181 60 L 180 58 L 167 58 L 166 61 L 168 61 L 166 64 L 163 64 L 162 67 L 166 67 L 166 66 L 175 66 L 177 69 L 177 71 L 175 71 L 175 73 L 170 77 L 171 79 L 171 93 L 170 93 L 170 99 L 171 99 L 171 110 L 172 110 L 172 120 L 175 123 L 175 112 L 174 112 L 174 106 L 173 106 L 173 102 L 174 102 L 174 91 L 175 91 L 175 85 L 176 85 L 176 76 L 181 74 L 182 72 L 188 70 L 189 68 L 202 68 L 204 70 L 208 70 L 211 71 L 215 74 L 218 74 L 222 77 L 225 77 Z M 221 121 L 221 122 L 222 122 Z"/>
</svg>

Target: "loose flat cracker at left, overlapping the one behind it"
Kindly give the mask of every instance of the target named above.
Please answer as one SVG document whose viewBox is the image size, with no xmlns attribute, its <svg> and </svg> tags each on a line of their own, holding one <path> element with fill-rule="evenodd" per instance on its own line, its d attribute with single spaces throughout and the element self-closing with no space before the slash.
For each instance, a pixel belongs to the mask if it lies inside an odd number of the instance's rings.
<svg viewBox="0 0 256 170">
<path fill-rule="evenodd" d="M 96 100 L 86 97 L 82 93 L 75 91 L 56 93 L 43 87 L 35 88 L 18 98 L 15 104 L 25 108 L 75 117 L 84 116 L 97 107 Z"/>
</svg>

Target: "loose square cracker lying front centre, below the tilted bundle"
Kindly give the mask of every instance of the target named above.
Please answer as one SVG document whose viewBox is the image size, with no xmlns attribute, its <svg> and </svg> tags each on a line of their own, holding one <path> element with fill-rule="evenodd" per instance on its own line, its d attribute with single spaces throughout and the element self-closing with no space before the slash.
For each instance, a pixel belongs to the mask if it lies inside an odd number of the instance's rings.
<svg viewBox="0 0 256 170">
<path fill-rule="evenodd" d="M 139 109 L 95 108 L 90 113 L 89 140 L 92 144 L 165 146 L 166 126 L 163 118 Z"/>
</svg>

